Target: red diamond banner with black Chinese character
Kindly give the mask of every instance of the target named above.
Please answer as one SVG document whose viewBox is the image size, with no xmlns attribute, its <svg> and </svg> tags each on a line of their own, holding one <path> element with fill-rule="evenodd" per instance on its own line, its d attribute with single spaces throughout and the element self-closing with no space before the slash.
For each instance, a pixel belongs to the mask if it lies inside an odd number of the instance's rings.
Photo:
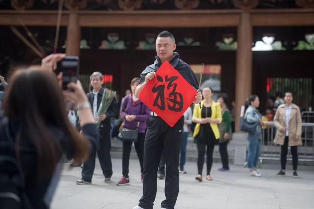
<svg viewBox="0 0 314 209">
<path fill-rule="evenodd" d="M 196 90 L 165 61 L 139 94 L 139 99 L 173 127 L 195 99 Z"/>
</svg>

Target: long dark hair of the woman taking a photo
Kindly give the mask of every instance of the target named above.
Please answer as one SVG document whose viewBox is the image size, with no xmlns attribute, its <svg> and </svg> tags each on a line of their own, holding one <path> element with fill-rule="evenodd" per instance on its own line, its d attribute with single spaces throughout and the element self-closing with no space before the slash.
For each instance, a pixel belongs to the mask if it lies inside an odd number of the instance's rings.
<svg viewBox="0 0 314 209">
<path fill-rule="evenodd" d="M 38 177 L 51 176 L 62 156 L 58 139 L 49 126 L 56 127 L 70 140 L 75 162 L 88 157 L 88 141 L 70 124 L 64 99 L 52 72 L 32 67 L 13 73 L 3 98 L 5 116 L 18 118 L 16 154 L 25 140 L 34 144 Z"/>
</svg>

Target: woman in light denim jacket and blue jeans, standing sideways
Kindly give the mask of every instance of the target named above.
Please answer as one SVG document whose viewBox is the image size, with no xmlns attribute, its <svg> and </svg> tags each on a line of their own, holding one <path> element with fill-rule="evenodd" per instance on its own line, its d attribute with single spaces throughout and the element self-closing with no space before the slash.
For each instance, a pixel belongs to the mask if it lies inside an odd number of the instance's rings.
<svg viewBox="0 0 314 209">
<path fill-rule="evenodd" d="M 256 123 L 255 132 L 248 135 L 248 175 L 260 177 L 261 173 L 256 169 L 256 165 L 261 153 L 260 139 L 262 137 L 262 116 L 257 110 L 260 106 L 260 99 L 257 95 L 251 95 L 246 103 L 245 120 L 248 123 Z"/>
</svg>

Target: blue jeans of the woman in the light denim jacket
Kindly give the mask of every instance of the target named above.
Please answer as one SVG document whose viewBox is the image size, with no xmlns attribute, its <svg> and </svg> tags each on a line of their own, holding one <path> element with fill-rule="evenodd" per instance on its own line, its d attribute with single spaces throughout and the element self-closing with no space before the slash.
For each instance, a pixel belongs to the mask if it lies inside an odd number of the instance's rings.
<svg viewBox="0 0 314 209">
<path fill-rule="evenodd" d="M 261 153 L 259 134 L 249 135 L 247 140 L 249 142 L 247 152 L 248 168 L 252 169 L 256 167 Z"/>
</svg>

